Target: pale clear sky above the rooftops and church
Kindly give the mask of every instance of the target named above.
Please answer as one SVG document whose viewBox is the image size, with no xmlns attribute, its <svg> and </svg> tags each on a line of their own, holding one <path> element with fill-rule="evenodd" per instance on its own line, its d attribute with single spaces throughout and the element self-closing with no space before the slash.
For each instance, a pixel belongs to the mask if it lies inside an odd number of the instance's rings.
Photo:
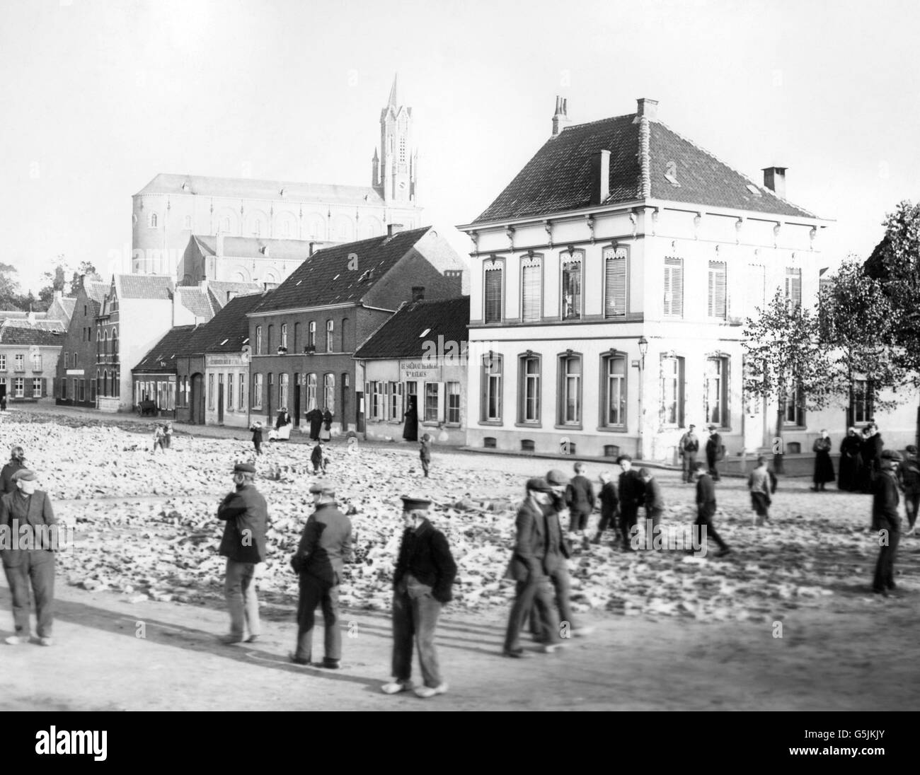
<svg viewBox="0 0 920 775">
<path fill-rule="evenodd" d="M 915 0 L 3 0 L 0 228 L 23 290 L 63 256 L 130 254 L 157 173 L 370 185 L 393 75 L 419 201 L 472 221 L 573 123 L 659 118 L 834 220 L 825 263 L 868 256 L 920 198 Z"/>
</svg>

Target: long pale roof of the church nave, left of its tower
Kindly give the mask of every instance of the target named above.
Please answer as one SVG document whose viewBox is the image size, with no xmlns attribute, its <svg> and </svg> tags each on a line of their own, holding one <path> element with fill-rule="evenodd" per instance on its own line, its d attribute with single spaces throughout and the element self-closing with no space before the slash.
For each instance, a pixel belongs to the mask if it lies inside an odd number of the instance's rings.
<svg viewBox="0 0 920 775">
<path fill-rule="evenodd" d="M 183 189 L 185 184 L 187 188 Z M 282 194 L 283 191 L 283 194 Z M 353 205 L 384 205 L 380 192 L 370 186 L 334 186 L 292 183 L 283 180 L 252 180 L 240 177 L 207 177 L 160 173 L 135 196 L 142 194 L 194 194 L 234 199 L 290 199 Z"/>
</svg>

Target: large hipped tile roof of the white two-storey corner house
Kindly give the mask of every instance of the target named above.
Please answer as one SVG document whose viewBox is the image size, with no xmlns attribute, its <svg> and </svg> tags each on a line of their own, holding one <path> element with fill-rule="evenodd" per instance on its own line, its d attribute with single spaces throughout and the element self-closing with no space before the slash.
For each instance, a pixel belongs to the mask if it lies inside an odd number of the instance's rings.
<svg viewBox="0 0 920 775">
<path fill-rule="evenodd" d="M 604 204 L 671 199 L 699 205 L 814 217 L 719 161 L 657 120 L 648 121 L 648 156 L 636 114 L 567 127 L 524 165 L 476 223 L 579 210 L 591 205 L 592 154 L 610 151 Z M 665 175 L 673 175 L 674 186 Z M 644 185 L 643 185 L 644 184 Z M 749 190 L 752 185 L 757 194 Z"/>
</svg>

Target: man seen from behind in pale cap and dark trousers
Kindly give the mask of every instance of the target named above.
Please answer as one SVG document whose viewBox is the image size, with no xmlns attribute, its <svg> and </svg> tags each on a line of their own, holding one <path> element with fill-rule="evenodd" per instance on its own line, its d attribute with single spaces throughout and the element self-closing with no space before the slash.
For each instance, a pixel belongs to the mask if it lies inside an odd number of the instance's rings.
<svg viewBox="0 0 920 775">
<path fill-rule="evenodd" d="M 328 484 L 314 484 L 310 493 L 316 511 L 307 518 L 297 553 L 291 558 L 294 572 L 300 576 L 300 600 L 297 650 L 290 658 L 298 665 L 310 664 L 316 606 L 322 606 L 326 651 L 316 667 L 337 670 L 342 651 L 339 584 L 345 561 L 351 562 L 351 519 L 339 511 L 335 491 Z"/>
</svg>

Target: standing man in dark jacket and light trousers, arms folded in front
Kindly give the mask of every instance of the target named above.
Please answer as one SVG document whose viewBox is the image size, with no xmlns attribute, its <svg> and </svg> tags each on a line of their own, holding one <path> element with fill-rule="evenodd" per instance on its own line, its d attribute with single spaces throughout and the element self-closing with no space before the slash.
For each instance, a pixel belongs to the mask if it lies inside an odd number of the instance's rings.
<svg viewBox="0 0 920 775">
<path fill-rule="evenodd" d="M 253 484 L 255 478 L 256 467 L 252 463 L 236 463 L 233 470 L 236 489 L 217 508 L 217 518 L 225 522 L 220 553 L 227 558 L 224 597 L 230 609 L 230 633 L 221 640 L 227 645 L 241 643 L 245 629 L 249 631 L 248 643 L 257 641 L 261 633 L 256 576 L 259 563 L 268 556 L 265 532 L 269 509 Z"/>
</svg>

